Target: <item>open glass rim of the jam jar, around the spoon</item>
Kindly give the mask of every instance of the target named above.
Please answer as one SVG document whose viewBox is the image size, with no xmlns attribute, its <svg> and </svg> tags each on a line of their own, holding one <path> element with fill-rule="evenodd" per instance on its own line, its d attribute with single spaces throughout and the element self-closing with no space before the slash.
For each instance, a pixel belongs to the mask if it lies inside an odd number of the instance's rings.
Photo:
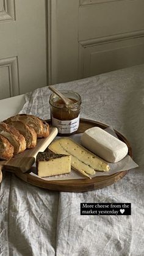
<svg viewBox="0 0 144 256">
<path fill-rule="evenodd" d="M 77 97 L 77 101 L 71 104 L 68 104 L 67 106 L 63 103 L 63 104 L 59 104 L 59 103 L 55 103 L 54 101 L 52 101 L 52 97 L 54 97 L 54 95 L 56 95 L 56 93 L 51 93 L 50 97 L 49 97 L 49 104 L 51 104 L 52 106 L 54 106 L 54 108 L 73 108 L 74 106 L 77 106 L 77 104 L 81 104 L 81 96 L 79 95 L 79 93 L 74 92 L 73 90 L 59 90 L 59 92 L 64 93 L 70 93 L 71 97 L 72 95 L 75 95 Z M 60 98 L 59 96 L 56 95 L 57 98 Z M 57 101 L 56 101 L 57 102 Z"/>
</svg>

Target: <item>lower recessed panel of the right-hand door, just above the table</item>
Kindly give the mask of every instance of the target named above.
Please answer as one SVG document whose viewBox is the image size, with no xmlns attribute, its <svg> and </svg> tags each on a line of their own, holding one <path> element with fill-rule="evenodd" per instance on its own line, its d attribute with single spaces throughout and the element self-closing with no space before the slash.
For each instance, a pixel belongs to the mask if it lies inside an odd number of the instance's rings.
<svg viewBox="0 0 144 256">
<path fill-rule="evenodd" d="M 81 47 L 80 77 L 86 78 L 115 69 L 144 63 L 144 38 Z"/>
</svg>

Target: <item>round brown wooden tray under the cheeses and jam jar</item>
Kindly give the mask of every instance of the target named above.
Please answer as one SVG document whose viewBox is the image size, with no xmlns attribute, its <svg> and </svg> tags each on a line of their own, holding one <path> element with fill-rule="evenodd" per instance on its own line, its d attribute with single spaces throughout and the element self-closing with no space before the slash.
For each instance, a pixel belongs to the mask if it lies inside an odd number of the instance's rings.
<svg viewBox="0 0 144 256">
<path fill-rule="evenodd" d="M 50 120 L 48 120 L 50 123 Z M 108 126 L 104 125 L 103 123 L 95 122 L 92 120 L 81 119 L 79 129 L 77 133 L 84 133 L 85 130 L 91 128 L 93 126 L 99 126 L 102 129 L 106 129 Z M 132 148 L 129 145 L 128 140 L 115 131 L 118 138 L 125 142 L 128 145 L 129 152 L 128 154 L 132 157 Z M 123 172 L 118 172 L 117 174 L 109 175 L 109 176 L 99 176 L 92 178 L 92 180 L 88 178 L 83 178 L 79 180 L 57 180 L 57 181 L 46 181 L 42 180 L 41 178 L 32 176 L 30 174 L 23 174 L 22 172 L 15 172 L 15 175 L 22 180 L 26 181 L 31 185 L 38 186 L 40 188 L 45 188 L 54 191 L 65 191 L 65 192 L 85 192 L 85 191 L 92 191 L 99 188 L 104 188 L 106 186 L 112 185 L 114 182 L 120 180 L 121 178 L 126 175 L 128 170 Z"/>
</svg>

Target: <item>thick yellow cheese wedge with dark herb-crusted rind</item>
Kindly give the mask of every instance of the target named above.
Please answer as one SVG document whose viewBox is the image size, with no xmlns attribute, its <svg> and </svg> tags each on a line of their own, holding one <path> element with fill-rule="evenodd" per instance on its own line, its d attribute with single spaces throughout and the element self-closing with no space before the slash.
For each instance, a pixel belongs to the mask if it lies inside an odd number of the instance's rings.
<svg viewBox="0 0 144 256">
<path fill-rule="evenodd" d="M 71 156 L 39 152 L 36 158 L 36 170 L 40 177 L 68 174 L 71 171 Z"/>
</svg>

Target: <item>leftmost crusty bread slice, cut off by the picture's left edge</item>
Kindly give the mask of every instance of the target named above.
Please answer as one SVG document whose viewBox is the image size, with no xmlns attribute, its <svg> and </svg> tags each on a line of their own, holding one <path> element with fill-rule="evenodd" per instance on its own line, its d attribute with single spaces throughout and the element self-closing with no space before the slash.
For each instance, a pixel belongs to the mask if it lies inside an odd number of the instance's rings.
<svg viewBox="0 0 144 256">
<path fill-rule="evenodd" d="M 0 159 L 7 160 L 13 157 L 14 147 L 8 139 L 0 134 Z"/>
</svg>

